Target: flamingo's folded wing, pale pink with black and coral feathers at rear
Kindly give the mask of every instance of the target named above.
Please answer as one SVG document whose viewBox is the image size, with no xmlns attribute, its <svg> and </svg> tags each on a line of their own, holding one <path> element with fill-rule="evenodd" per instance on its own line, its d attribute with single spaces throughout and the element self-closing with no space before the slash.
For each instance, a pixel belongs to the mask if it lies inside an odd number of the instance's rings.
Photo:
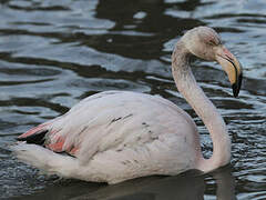
<svg viewBox="0 0 266 200">
<path fill-rule="evenodd" d="M 66 152 L 86 162 L 94 154 L 108 150 L 145 147 L 164 133 L 176 132 L 177 123 L 195 128 L 183 110 L 163 98 L 108 91 L 85 98 L 65 114 L 29 130 L 18 139 L 44 146 L 54 152 Z M 185 126 L 187 123 L 191 124 Z"/>
</svg>

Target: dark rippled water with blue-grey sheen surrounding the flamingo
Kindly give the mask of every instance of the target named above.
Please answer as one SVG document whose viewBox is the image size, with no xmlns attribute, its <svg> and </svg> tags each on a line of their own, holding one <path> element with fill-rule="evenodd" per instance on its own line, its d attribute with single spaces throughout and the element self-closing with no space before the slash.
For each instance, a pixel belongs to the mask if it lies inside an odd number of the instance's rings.
<svg viewBox="0 0 266 200">
<path fill-rule="evenodd" d="M 266 4 L 264 0 L 4 0 L 0 2 L 0 194 L 12 199 L 266 199 Z M 116 186 L 45 177 L 8 146 L 99 91 L 161 94 L 186 110 L 170 58 L 180 36 L 215 28 L 244 66 L 238 99 L 221 67 L 193 71 L 228 126 L 233 158 L 212 174 L 150 177 Z"/>
</svg>

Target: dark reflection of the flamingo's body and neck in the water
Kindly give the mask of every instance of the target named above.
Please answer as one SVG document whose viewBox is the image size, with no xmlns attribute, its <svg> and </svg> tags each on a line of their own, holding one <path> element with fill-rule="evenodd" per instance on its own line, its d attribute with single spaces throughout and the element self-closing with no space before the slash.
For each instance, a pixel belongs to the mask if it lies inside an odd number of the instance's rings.
<svg viewBox="0 0 266 200">
<path fill-rule="evenodd" d="M 227 166 L 209 174 L 214 178 L 217 200 L 235 200 L 235 179 Z M 108 186 L 72 200 L 202 200 L 206 176 L 190 171 L 176 177 L 149 177 Z"/>
</svg>

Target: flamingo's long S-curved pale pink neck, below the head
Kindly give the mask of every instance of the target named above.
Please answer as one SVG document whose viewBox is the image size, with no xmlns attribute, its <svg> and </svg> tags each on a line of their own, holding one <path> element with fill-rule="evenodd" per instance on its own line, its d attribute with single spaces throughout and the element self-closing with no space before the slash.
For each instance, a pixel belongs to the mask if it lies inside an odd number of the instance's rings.
<svg viewBox="0 0 266 200">
<path fill-rule="evenodd" d="M 229 162 L 231 139 L 223 118 L 197 86 L 190 68 L 190 57 L 191 53 L 180 40 L 172 56 L 172 73 L 178 91 L 209 131 L 213 141 L 213 156 L 209 159 L 202 157 L 196 166 L 197 169 L 207 172 Z"/>
</svg>

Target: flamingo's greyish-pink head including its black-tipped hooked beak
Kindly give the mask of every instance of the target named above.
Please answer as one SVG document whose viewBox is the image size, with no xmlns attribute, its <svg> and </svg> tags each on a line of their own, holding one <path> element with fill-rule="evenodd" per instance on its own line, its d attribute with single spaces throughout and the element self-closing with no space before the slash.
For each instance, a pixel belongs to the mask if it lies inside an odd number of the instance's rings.
<svg viewBox="0 0 266 200">
<path fill-rule="evenodd" d="M 222 44 L 218 33 L 208 27 L 197 27 L 187 31 L 183 37 L 186 49 L 194 56 L 208 61 L 217 61 L 227 73 L 237 97 L 242 86 L 242 64 L 236 57 Z"/>
</svg>

